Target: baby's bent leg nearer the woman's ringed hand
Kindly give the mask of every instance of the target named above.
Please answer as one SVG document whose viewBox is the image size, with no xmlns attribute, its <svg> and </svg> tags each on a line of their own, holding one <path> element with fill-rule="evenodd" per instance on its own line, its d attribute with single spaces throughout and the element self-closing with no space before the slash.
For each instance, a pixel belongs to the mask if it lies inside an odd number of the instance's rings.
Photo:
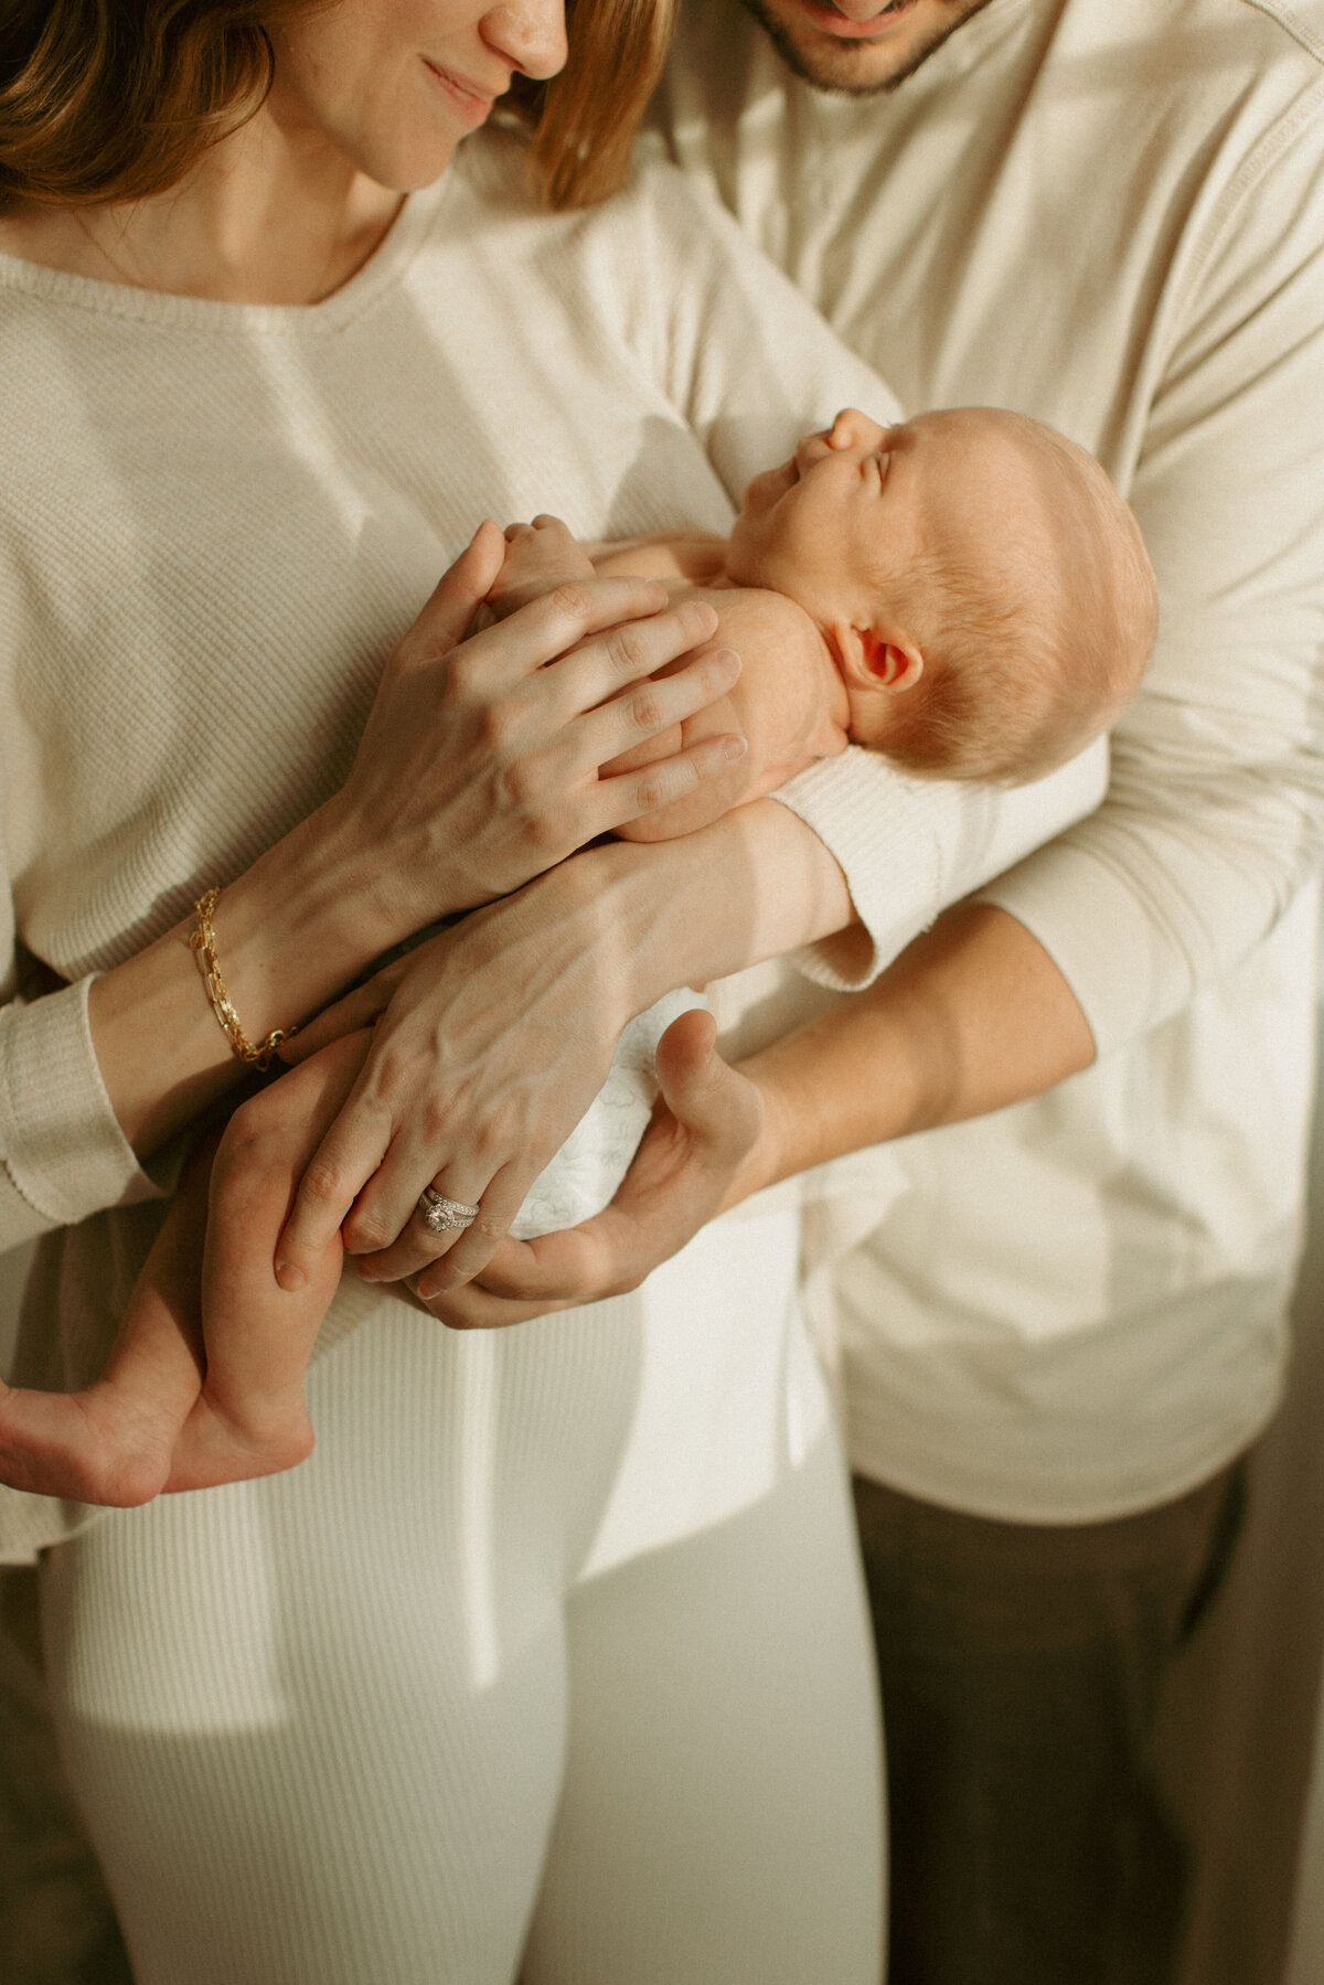
<svg viewBox="0 0 1324 1985">
<path fill-rule="evenodd" d="M 304 1167 L 353 1088 L 369 1040 L 359 1030 L 331 1042 L 226 1125 L 202 1253 L 206 1378 L 175 1449 L 171 1491 L 274 1475 L 312 1451 L 304 1370 L 343 1247 L 335 1235 L 300 1290 L 278 1284 L 272 1260 Z"/>
</svg>

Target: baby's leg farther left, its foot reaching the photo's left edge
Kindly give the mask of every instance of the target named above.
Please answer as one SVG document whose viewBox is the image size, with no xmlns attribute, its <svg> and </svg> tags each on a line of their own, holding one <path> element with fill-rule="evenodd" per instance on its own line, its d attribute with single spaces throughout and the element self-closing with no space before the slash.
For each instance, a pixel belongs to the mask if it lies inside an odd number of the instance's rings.
<svg viewBox="0 0 1324 1985">
<path fill-rule="evenodd" d="M 159 1495 L 202 1382 L 199 1260 L 214 1137 L 199 1147 L 143 1264 L 105 1376 L 83 1391 L 0 1388 L 0 1481 L 133 1507 Z"/>
</svg>

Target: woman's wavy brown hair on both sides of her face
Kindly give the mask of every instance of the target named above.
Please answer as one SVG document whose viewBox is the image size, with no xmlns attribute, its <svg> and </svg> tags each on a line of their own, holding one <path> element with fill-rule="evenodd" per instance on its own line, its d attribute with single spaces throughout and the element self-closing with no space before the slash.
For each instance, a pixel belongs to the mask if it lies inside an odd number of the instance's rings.
<svg viewBox="0 0 1324 1985">
<path fill-rule="evenodd" d="M 93 206 L 177 185 L 272 87 L 270 30 L 316 0 L 2 0 L 0 212 Z M 625 177 L 675 0 L 568 0 L 570 58 L 506 103 L 550 206 Z"/>
</svg>

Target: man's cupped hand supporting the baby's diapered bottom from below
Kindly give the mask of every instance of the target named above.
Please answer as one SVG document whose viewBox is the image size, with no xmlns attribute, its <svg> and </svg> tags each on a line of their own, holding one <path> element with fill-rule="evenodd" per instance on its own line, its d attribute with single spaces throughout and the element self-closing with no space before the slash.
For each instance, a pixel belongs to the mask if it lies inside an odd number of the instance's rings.
<svg viewBox="0 0 1324 1985">
<path fill-rule="evenodd" d="M 451 1258 L 415 1276 L 415 1298 L 455 1330 L 492 1330 L 637 1288 L 711 1219 L 776 1171 L 764 1092 L 717 1054 L 717 1024 L 687 1012 L 657 1046 L 661 1098 L 621 1187 L 596 1219 L 540 1241 L 502 1241 L 482 1280 Z"/>
</svg>

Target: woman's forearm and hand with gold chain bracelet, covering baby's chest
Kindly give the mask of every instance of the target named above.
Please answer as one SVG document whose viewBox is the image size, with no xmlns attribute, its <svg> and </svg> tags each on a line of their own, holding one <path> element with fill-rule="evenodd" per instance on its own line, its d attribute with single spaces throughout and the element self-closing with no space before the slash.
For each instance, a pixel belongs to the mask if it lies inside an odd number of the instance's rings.
<svg viewBox="0 0 1324 1985">
<path fill-rule="evenodd" d="M 437 917 L 518 889 L 588 838 L 721 770 L 730 740 L 619 778 L 599 766 L 721 697 L 713 611 L 637 580 L 556 588 L 464 639 L 500 570 L 484 526 L 397 643 L 339 794 L 224 883 L 224 987 L 250 1042 L 290 1028 Z M 701 649 L 693 655 L 695 647 Z M 663 683 L 631 685 L 683 659 Z M 147 1157 L 242 1072 L 204 994 L 191 925 L 93 987 L 91 1032 L 129 1143 Z"/>
</svg>

